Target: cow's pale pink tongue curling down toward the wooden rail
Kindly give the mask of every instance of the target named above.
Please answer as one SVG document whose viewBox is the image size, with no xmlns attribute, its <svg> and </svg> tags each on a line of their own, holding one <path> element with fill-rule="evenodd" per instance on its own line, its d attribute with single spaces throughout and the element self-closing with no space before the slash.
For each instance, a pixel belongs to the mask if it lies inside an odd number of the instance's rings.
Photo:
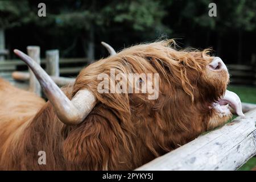
<svg viewBox="0 0 256 182">
<path fill-rule="evenodd" d="M 218 101 L 219 104 L 229 104 L 237 113 L 242 117 L 245 117 L 242 111 L 242 104 L 240 98 L 236 93 L 226 90 L 225 95 Z"/>
</svg>

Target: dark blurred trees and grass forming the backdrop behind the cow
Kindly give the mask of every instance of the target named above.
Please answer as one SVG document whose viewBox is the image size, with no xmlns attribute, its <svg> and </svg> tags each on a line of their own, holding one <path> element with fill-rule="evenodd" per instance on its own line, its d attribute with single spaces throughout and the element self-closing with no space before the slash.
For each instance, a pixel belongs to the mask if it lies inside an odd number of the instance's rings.
<svg viewBox="0 0 256 182">
<path fill-rule="evenodd" d="M 46 4 L 46 17 L 38 16 L 41 2 Z M 211 2 L 217 5 L 216 17 L 208 15 Z M 175 38 L 181 48 L 212 47 L 230 69 L 229 89 L 243 102 L 256 103 L 255 0 L 0 1 L 0 59 L 5 61 L 16 59 L 14 48 L 26 51 L 36 45 L 41 57 L 48 49 L 59 49 L 62 58 L 92 62 L 108 56 L 101 41 L 119 51 L 163 38 Z M 255 165 L 252 158 L 241 169 Z"/>
</svg>

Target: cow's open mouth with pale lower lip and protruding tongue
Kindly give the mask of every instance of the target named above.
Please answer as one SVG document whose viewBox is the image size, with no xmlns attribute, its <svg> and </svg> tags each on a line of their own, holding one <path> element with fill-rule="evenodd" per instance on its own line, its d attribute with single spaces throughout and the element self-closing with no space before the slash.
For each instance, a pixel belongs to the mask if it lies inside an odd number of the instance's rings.
<svg viewBox="0 0 256 182">
<path fill-rule="evenodd" d="M 212 106 L 222 115 L 229 115 L 231 113 L 230 107 L 232 107 L 237 115 L 245 117 L 242 111 L 240 98 L 236 93 L 230 92 L 229 90 L 226 90 L 224 96 L 222 96 L 217 102 L 214 102 Z"/>
</svg>

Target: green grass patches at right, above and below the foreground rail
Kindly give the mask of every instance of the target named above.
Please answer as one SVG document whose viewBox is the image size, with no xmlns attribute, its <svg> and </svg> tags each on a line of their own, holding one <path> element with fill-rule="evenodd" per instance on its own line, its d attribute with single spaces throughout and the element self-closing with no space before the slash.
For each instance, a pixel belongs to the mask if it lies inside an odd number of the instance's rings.
<svg viewBox="0 0 256 182">
<path fill-rule="evenodd" d="M 229 86 L 228 90 L 236 93 L 242 102 L 256 104 L 256 87 L 252 86 Z M 256 157 L 251 158 L 247 163 L 239 169 L 241 171 L 250 170 L 256 166 Z"/>
</svg>

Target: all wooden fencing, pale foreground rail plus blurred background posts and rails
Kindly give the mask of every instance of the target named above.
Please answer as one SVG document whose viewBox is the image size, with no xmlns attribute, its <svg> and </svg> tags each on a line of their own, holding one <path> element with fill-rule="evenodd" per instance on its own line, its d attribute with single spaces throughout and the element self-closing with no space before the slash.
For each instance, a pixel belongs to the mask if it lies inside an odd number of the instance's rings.
<svg viewBox="0 0 256 182">
<path fill-rule="evenodd" d="M 78 73 L 82 67 L 64 67 L 60 64 L 88 63 L 86 59 L 59 59 L 59 51 L 49 50 L 46 59 L 40 60 L 40 48 L 28 47 L 30 55 L 38 63 L 46 65 L 46 70 L 52 79 L 60 86 L 71 84 L 74 78 L 60 77 L 61 73 Z M 31 72 L 13 72 L 17 65 L 25 65 L 22 61 L 1 61 L 0 69 L 11 72 L 14 80 L 28 81 L 30 90 L 40 94 L 40 86 Z M 242 77 L 253 68 L 248 66 L 228 65 L 232 76 Z M 13 72 L 13 73 L 12 73 Z M 243 73 L 244 72 L 244 73 Z M 254 73 L 248 73 L 255 77 Z M 1 76 L 1 75 L 0 75 Z M 241 80 L 245 84 L 244 80 Z M 254 82 L 254 79 L 252 80 Z M 232 81 L 234 82 L 234 80 Z M 251 84 L 250 82 L 247 82 Z M 255 82 L 254 82 L 255 84 Z M 242 104 L 245 118 L 237 117 L 220 129 L 202 135 L 184 144 L 166 155 L 160 156 L 144 164 L 136 170 L 235 170 L 247 160 L 256 155 L 256 105 Z"/>
</svg>

